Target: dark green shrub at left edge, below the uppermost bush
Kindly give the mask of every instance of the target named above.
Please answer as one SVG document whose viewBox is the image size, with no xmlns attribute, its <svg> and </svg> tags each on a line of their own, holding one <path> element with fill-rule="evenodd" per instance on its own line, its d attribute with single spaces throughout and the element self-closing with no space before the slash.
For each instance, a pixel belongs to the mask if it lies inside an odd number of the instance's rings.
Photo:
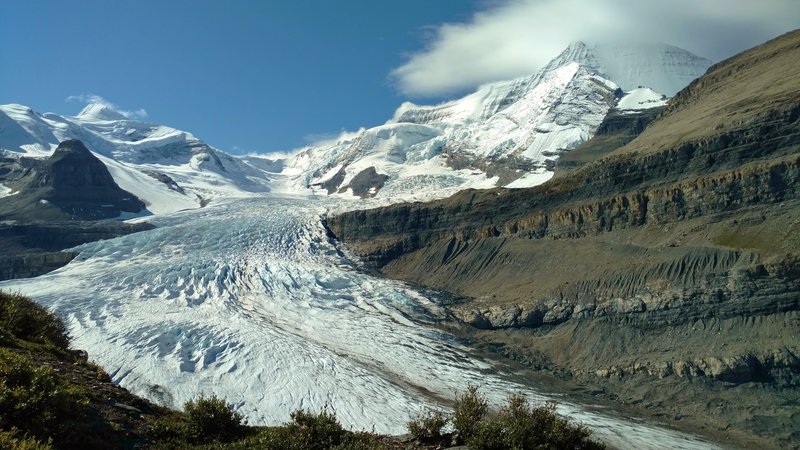
<svg viewBox="0 0 800 450">
<path fill-rule="evenodd" d="M 80 433 L 89 400 L 53 369 L 0 349 L 0 428 L 69 442 Z"/>
</svg>

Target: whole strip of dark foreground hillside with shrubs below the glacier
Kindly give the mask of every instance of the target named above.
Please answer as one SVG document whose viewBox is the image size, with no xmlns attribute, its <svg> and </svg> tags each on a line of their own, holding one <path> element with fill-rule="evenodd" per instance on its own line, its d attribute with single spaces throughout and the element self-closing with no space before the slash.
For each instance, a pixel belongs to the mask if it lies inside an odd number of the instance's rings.
<svg viewBox="0 0 800 450">
<path fill-rule="evenodd" d="M 451 425 L 452 432 L 443 430 Z M 85 353 L 70 350 L 63 323 L 17 294 L 0 292 L 0 448 L 46 449 L 595 449 L 589 431 L 513 396 L 496 413 L 476 387 L 452 413 L 408 423 L 407 439 L 345 430 L 336 414 L 298 410 L 278 427 L 248 426 L 223 399 L 200 396 L 172 411 L 115 386 Z"/>
</svg>

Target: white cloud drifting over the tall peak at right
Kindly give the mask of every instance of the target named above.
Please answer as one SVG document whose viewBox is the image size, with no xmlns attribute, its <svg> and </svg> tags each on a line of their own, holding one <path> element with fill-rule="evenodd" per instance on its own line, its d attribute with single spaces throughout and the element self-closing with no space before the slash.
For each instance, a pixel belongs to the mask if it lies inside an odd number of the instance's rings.
<svg viewBox="0 0 800 450">
<path fill-rule="evenodd" d="M 800 23 L 797 0 L 506 0 L 434 29 L 391 72 L 403 94 L 441 96 L 528 75 L 570 42 L 664 42 L 720 60 Z"/>
</svg>

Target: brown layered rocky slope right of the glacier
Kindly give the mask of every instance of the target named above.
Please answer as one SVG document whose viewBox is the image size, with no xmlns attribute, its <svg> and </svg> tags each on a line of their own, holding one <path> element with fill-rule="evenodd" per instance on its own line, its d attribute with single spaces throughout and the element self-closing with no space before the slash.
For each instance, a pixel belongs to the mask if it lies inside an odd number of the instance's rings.
<svg viewBox="0 0 800 450">
<path fill-rule="evenodd" d="M 569 176 L 327 226 L 386 275 L 463 296 L 452 314 L 482 345 L 683 426 L 797 445 L 799 64 L 795 31 L 710 68 L 623 147 L 590 141 Z"/>
</svg>

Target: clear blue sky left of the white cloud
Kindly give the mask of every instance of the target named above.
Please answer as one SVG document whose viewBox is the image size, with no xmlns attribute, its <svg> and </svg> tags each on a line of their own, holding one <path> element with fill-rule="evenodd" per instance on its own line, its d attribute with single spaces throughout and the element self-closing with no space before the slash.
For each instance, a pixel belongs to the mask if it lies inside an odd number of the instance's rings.
<svg viewBox="0 0 800 450">
<path fill-rule="evenodd" d="M 41 1 L 0 5 L 0 103 L 94 94 L 224 150 L 289 150 L 382 123 L 389 71 L 473 2 Z M 421 13 L 424 12 L 424 13 Z"/>
</svg>

